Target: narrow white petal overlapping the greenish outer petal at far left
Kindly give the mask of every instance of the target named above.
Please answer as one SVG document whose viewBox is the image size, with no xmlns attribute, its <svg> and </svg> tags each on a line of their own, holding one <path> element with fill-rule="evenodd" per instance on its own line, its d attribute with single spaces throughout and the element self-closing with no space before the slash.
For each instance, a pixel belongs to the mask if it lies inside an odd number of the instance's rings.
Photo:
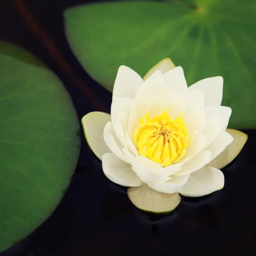
<svg viewBox="0 0 256 256">
<path fill-rule="evenodd" d="M 126 159 L 125 155 L 122 152 L 122 145 L 116 137 L 116 134 L 111 122 L 108 122 L 106 124 L 103 131 L 103 138 L 106 145 L 110 149 L 110 151 L 113 154 L 115 154 L 117 157 L 119 157 L 121 160 L 128 163 L 128 160 Z"/>
</svg>

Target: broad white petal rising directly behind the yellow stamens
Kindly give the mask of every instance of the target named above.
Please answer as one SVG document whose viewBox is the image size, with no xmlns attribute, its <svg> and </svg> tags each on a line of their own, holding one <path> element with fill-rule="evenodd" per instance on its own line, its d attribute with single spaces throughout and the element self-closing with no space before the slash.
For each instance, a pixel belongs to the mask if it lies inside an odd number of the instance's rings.
<svg viewBox="0 0 256 256">
<path fill-rule="evenodd" d="M 133 137 L 133 132 L 138 127 L 140 119 L 145 115 L 146 111 L 153 118 L 166 109 L 172 119 L 175 119 L 180 113 L 184 112 L 185 103 L 173 87 L 168 87 L 163 80 L 161 72 L 157 70 L 144 82 L 134 98 L 129 118 L 130 137 Z"/>
</svg>

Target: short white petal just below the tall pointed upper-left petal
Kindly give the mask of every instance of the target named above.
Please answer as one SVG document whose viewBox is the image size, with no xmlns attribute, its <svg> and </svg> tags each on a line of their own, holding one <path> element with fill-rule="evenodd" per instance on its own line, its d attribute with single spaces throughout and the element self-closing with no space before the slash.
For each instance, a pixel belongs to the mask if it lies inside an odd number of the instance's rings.
<svg viewBox="0 0 256 256">
<path fill-rule="evenodd" d="M 129 115 L 133 100 L 129 98 L 114 98 L 111 104 L 111 122 L 114 123 L 120 113 L 126 111 Z"/>
</svg>

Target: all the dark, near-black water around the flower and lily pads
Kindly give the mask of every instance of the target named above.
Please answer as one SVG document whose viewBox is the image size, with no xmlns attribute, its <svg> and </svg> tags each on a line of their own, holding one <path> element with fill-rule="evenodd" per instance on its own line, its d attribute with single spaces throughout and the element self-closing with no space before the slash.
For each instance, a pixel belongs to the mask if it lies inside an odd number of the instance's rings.
<svg viewBox="0 0 256 256">
<path fill-rule="evenodd" d="M 57 74 L 79 119 L 90 111 L 109 112 L 111 105 L 111 93 L 85 73 L 64 34 L 64 9 L 88 2 L 0 0 L 0 39 L 31 51 Z M 78 167 L 60 205 L 1 256 L 255 256 L 256 132 L 245 132 L 244 149 L 223 170 L 224 189 L 183 198 L 175 212 L 162 217 L 137 210 L 125 189 L 107 180 L 81 134 Z"/>
</svg>

